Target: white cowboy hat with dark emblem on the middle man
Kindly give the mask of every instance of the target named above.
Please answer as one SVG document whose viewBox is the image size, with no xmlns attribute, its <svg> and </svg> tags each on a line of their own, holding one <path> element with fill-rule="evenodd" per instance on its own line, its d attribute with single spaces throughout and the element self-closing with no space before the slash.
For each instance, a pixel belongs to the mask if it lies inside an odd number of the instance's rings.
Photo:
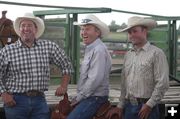
<svg viewBox="0 0 180 119">
<path fill-rule="evenodd" d="M 101 37 L 105 37 L 109 33 L 109 27 L 104 22 L 99 20 L 95 15 L 87 15 L 80 23 L 74 22 L 73 24 L 78 26 L 92 24 L 99 28 L 101 31 Z"/>
</svg>

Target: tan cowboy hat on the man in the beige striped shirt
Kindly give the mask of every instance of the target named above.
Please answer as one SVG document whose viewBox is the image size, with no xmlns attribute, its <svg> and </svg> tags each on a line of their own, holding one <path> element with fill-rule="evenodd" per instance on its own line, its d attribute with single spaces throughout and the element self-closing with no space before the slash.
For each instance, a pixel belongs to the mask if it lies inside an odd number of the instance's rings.
<svg viewBox="0 0 180 119">
<path fill-rule="evenodd" d="M 119 32 L 125 32 L 134 26 L 145 26 L 148 30 L 151 30 L 157 26 L 157 22 L 153 19 L 144 19 L 143 17 L 138 16 L 130 17 L 128 19 L 127 27 Z"/>
</svg>

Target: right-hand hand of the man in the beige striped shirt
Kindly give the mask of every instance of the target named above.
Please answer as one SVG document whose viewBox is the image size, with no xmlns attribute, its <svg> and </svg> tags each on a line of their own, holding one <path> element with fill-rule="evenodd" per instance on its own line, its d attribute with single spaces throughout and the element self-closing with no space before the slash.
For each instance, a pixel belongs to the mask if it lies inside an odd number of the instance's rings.
<svg viewBox="0 0 180 119">
<path fill-rule="evenodd" d="M 151 107 L 149 107 L 147 104 L 144 104 L 138 114 L 140 119 L 147 119 L 151 110 Z"/>
</svg>

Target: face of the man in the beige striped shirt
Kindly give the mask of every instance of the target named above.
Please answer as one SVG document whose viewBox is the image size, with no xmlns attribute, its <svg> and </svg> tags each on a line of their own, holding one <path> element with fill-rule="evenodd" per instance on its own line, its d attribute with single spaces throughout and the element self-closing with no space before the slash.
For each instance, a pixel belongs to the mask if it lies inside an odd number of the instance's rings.
<svg viewBox="0 0 180 119">
<path fill-rule="evenodd" d="M 128 30 L 128 37 L 133 45 L 142 46 L 147 40 L 147 29 L 141 26 L 135 26 Z"/>
</svg>

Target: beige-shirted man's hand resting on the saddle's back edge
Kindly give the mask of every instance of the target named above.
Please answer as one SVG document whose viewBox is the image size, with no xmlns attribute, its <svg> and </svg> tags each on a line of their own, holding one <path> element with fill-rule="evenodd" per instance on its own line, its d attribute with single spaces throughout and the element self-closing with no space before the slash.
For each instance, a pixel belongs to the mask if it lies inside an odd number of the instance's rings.
<svg viewBox="0 0 180 119">
<path fill-rule="evenodd" d="M 123 117 L 123 109 L 122 108 L 112 108 L 108 111 L 108 113 L 106 114 L 106 118 L 110 119 L 110 117 L 112 117 L 114 114 L 118 114 L 119 119 L 122 119 Z"/>
</svg>

